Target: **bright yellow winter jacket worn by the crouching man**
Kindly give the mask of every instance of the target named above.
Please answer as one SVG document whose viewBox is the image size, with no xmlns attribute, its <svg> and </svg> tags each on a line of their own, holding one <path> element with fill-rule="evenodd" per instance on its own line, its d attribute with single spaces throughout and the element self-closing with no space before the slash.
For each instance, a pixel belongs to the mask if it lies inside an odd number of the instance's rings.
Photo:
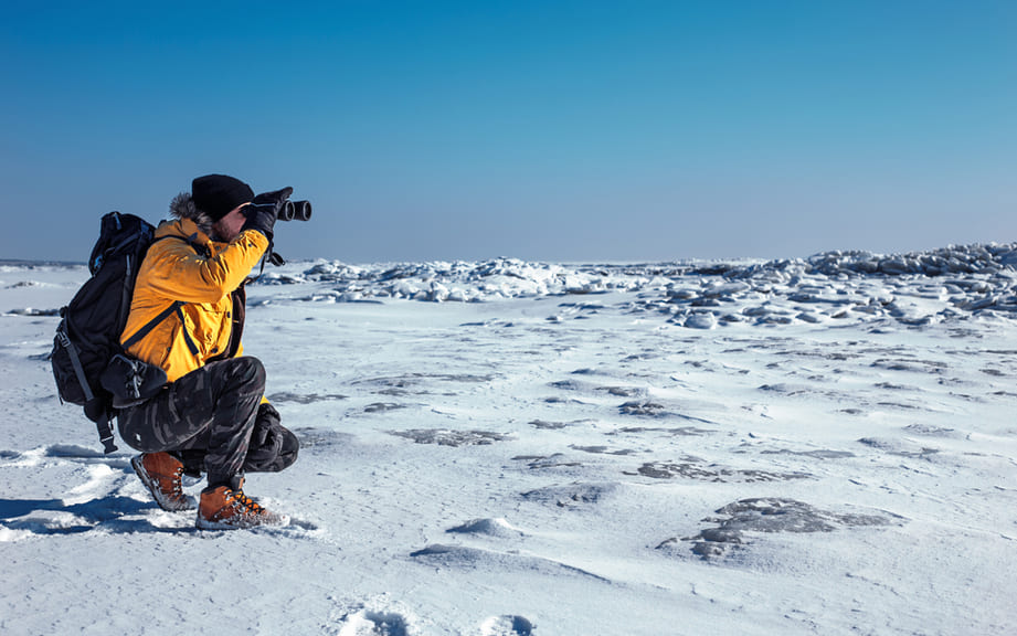
<svg viewBox="0 0 1017 636">
<path fill-rule="evenodd" d="M 170 382 L 202 367 L 210 359 L 240 356 L 239 336 L 243 330 L 243 283 L 268 248 L 261 232 L 244 230 L 230 243 L 212 241 L 194 221 L 167 221 L 156 230 L 166 239 L 149 247 L 135 284 L 127 327 L 120 342 L 127 341 L 152 318 L 182 300 L 180 309 L 127 352 L 166 371 Z M 192 244 L 208 253 L 199 254 Z M 236 305 L 234 304 L 236 295 Z M 231 339 L 236 329 L 237 341 Z"/>
</svg>

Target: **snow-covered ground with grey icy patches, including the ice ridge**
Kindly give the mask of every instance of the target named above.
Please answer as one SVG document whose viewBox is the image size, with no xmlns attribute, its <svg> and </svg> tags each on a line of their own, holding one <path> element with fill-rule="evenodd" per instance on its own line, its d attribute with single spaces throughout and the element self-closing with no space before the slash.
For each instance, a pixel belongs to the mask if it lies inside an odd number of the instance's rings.
<svg viewBox="0 0 1017 636">
<path fill-rule="evenodd" d="M 55 395 L 87 271 L 0 265 L 0 633 L 1015 634 L 1015 266 L 271 269 L 293 522 L 203 532 Z"/>
</svg>

